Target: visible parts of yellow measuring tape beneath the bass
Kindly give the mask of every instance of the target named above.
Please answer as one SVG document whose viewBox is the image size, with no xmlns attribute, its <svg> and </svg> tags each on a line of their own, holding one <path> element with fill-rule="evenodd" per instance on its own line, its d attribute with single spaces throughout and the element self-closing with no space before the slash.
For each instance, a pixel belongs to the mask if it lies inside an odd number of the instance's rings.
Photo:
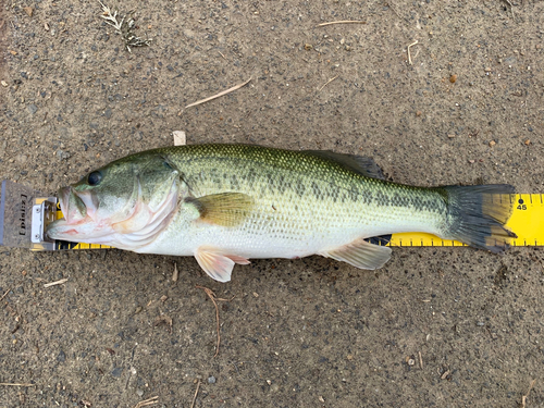
<svg viewBox="0 0 544 408">
<path fill-rule="evenodd" d="M 58 218 L 62 218 L 60 209 Z M 542 194 L 512 195 L 512 214 L 506 224 L 517 238 L 515 247 L 544 245 L 544 203 Z M 462 247 L 458 240 L 445 240 L 425 233 L 393 234 L 387 246 L 391 247 Z M 106 249 L 107 245 L 57 242 L 55 249 Z"/>
</svg>

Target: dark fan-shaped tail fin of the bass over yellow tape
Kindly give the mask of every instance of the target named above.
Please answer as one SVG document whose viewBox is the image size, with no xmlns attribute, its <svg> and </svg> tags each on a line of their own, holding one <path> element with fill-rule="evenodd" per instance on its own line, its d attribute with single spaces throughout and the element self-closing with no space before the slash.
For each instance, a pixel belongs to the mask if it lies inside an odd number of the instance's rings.
<svg viewBox="0 0 544 408">
<path fill-rule="evenodd" d="M 514 186 L 447 186 L 438 190 L 445 193 L 448 205 L 448 237 L 492 252 L 503 251 L 517 237 L 505 227 L 512 212 Z"/>
</svg>

